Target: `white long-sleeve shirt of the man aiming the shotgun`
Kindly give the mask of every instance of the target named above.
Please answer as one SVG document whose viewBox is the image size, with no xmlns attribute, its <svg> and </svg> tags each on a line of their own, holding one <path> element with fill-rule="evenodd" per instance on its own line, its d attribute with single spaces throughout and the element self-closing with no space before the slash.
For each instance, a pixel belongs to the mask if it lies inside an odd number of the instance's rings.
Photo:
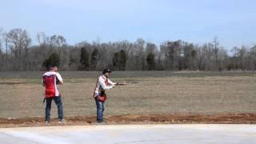
<svg viewBox="0 0 256 144">
<path fill-rule="evenodd" d="M 114 82 L 110 81 L 109 78 L 106 78 L 104 75 L 98 77 L 98 82 L 96 83 L 94 90 L 94 97 L 100 94 L 100 90 L 110 90 L 114 86 Z"/>
</svg>

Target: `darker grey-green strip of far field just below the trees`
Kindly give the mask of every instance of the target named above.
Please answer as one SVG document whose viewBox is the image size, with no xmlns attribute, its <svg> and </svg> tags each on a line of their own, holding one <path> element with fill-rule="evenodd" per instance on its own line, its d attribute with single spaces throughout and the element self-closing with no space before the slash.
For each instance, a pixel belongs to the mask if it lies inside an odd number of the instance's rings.
<svg viewBox="0 0 256 144">
<path fill-rule="evenodd" d="M 40 79 L 43 71 L 0 72 L 1 79 Z M 97 78 L 101 71 L 61 71 L 65 79 Z M 255 77 L 254 71 L 225 71 L 225 72 L 196 72 L 196 71 L 114 71 L 113 78 L 163 78 L 163 77 L 213 77 L 213 76 L 250 76 Z"/>
</svg>

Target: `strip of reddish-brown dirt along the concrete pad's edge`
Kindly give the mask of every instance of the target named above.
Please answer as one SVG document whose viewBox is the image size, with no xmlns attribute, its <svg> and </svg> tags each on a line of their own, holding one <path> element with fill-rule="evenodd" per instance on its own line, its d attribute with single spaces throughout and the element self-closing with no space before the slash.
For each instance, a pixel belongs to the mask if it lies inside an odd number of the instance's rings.
<svg viewBox="0 0 256 144">
<path fill-rule="evenodd" d="M 256 124 L 256 114 L 171 114 L 171 115 L 114 115 L 105 117 L 106 124 L 150 123 L 206 123 L 206 124 Z M 95 116 L 66 117 L 65 123 L 52 119 L 50 126 L 94 125 Z M 44 118 L 0 118 L 0 127 L 45 126 Z"/>
</svg>

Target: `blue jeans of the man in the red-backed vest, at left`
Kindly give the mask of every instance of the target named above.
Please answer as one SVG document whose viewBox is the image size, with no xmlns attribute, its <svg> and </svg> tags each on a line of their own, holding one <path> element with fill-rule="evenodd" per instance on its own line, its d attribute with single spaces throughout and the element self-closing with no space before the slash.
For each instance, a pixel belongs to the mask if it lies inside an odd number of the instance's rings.
<svg viewBox="0 0 256 144">
<path fill-rule="evenodd" d="M 53 98 L 46 98 L 46 121 L 50 121 L 50 108 L 51 108 L 51 101 L 54 99 L 58 107 L 58 119 L 63 119 L 63 106 L 62 106 L 62 97 L 53 97 Z"/>
</svg>

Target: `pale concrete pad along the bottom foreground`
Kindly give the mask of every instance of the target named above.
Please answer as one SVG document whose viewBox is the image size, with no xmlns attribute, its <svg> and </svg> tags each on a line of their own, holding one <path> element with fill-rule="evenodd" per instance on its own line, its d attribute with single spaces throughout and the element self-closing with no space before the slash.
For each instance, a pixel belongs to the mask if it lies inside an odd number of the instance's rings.
<svg viewBox="0 0 256 144">
<path fill-rule="evenodd" d="M 0 143 L 256 143 L 256 125 L 101 125 L 0 129 Z"/>
</svg>

